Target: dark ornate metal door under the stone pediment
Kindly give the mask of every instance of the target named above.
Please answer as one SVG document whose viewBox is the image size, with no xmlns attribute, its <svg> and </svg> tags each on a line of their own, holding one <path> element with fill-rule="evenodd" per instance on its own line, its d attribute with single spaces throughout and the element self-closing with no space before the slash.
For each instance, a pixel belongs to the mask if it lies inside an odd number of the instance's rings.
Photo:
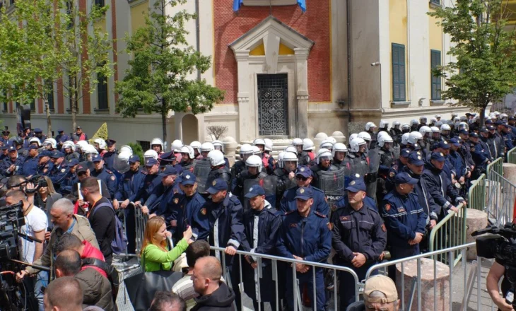
<svg viewBox="0 0 516 311">
<path fill-rule="evenodd" d="M 258 127 L 260 136 L 288 135 L 287 74 L 258 75 Z"/>
</svg>

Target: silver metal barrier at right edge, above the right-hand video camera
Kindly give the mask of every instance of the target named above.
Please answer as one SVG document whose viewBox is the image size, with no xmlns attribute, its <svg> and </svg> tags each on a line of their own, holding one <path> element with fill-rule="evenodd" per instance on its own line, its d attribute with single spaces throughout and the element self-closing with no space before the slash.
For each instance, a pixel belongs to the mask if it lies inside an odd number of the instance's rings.
<svg viewBox="0 0 516 311">
<path fill-rule="evenodd" d="M 489 172 L 488 204 L 486 213 L 494 225 L 511 223 L 514 219 L 516 185 L 496 170 Z"/>
</svg>

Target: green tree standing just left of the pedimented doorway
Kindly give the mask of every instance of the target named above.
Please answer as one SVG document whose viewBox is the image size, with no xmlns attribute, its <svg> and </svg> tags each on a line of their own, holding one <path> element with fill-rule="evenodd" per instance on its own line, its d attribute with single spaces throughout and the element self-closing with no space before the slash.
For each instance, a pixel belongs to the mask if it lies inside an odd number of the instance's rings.
<svg viewBox="0 0 516 311">
<path fill-rule="evenodd" d="M 174 16 L 165 7 L 185 4 L 187 0 L 156 0 L 146 15 L 146 25 L 132 37 L 126 37 L 127 53 L 132 54 L 129 69 L 116 91 L 120 98 L 117 112 L 135 117 L 140 111 L 159 113 L 163 141 L 167 140 L 167 117 L 170 111 L 192 112 L 211 110 L 223 100 L 223 91 L 204 79 L 192 80 L 194 71 L 204 73 L 211 66 L 210 57 L 201 55 L 186 40 L 184 24 L 196 16 L 178 11 Z"/>
</svg>

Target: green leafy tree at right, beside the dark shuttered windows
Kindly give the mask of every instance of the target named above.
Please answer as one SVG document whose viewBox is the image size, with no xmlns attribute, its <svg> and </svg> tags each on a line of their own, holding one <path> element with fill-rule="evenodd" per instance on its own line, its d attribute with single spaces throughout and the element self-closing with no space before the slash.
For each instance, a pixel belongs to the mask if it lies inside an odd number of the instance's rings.
<svg viewBox="0 0 516 311">
<path fill-rule="evenodd" d="M 503 0 L 456 0 L 455 6 L 437 8 L 428 15 L 450 35 L 455 57 L 433 74 L 446 78 L 445 99 L 480 112 L 483 125 L 486 107 L 502 100 L 516 86 L 514 28 L 508 27 L 509 11 Z"/>
</svg>

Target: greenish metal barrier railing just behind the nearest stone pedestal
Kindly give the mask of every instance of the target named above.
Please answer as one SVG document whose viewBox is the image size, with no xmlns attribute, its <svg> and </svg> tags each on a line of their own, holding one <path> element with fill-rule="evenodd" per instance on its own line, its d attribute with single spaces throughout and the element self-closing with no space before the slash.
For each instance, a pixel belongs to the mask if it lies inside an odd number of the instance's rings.
<svg viewBox="0 0 516 311">
<path fill-rule="evenodd" d="M 434 250 L 442 250 L 449 247 L 456 247 L 464 245 L 466 243 L 466 213 L 467 208 L 464 204 L 457 206 L 458 212 L 451 211 L 448 215 L 442 219 L 435 227 L 430 231 L 430 252 Z M 462 258 L 462 253 L 455 253 L 454 265 L 459 263 Z M 448 258 L 437 255 L 437 259 L 440 262 L 447 264 Z"/>
</svg>

